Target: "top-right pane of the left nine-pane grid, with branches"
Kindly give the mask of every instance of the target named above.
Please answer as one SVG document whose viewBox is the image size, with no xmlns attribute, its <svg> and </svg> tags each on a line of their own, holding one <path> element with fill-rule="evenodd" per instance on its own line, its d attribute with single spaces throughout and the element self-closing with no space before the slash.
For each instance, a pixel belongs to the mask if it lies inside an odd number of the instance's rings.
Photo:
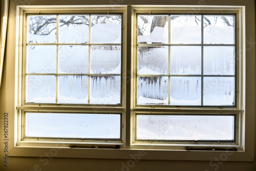
<svg viewBox="0 0 256 171">
<path fill-rule="evenodd" d="M 92 15 L 91 42 L 121 44 L 121 15 Z"/>
</svg>

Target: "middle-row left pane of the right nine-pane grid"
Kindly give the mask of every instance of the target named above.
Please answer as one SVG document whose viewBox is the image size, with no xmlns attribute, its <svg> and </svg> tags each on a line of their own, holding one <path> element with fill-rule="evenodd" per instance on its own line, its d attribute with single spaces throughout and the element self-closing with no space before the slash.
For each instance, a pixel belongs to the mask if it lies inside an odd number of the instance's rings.
<svg viewBox="0 0 256 171">
<path fill-rule="evenodd" d="M 138 74 L 168 74 L 168 47 L 138 47 Z"/>
</svg>

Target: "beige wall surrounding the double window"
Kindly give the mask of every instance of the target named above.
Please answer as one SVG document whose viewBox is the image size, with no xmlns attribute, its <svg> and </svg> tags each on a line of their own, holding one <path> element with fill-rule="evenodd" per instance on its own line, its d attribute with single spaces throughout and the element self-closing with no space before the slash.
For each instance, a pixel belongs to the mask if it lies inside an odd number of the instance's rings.
<svg viewBox="0 0 256 171">
<path fill-rule="evenodd" d="M 33 2 L 33 3 L 32 3 Z M 113 3 L 115 2 L 115 3 Z M 251 47 L 246 51 L 246 62 L 249 69 L 246 70 L 247 75 L 254 76 L 255 66 L 255 13 L 254 1 L 249 0 L 13 0 L 10 1 L 9 19 L 8 19 L 8 35 L 7 35 L 7 51 L 4 60 L 3 80 L 0 88 L 0 170 L 172 170 L 172 171 L 206 171 L 207 169 L 218 171 L 255 171 L 256 162 L 220 162 L 217 166 L 212 167 L 209 161 L 160 161 L 160 160 L 141 160 L 132 168 L 123 168 L 123 164 L 127 160 L 113 160 L 113 159 L 75 159 L 75 158 L 53 158 L 49 163 L 44 165 L 39 158 L 30 157 L 9 157 L 8 167 L 4 167 L 4 131 L 3 119 L 4 113 L 9 113 L 9 138 L 13 137 L 14 125 L 14 74 L 15 74 L 15 22 L 16 22 L 16 5 L 243 5 L 246 6 L 246 39 L 248 40 L 247 47 Z M 25 3 L 25 4 L 23 4 Z M 250 42 L 250 43 L 249 43 Z M 248 106 L 253 108 L 255 102 L 255 79 L 247 80 L 246 91 L 247 94 L 253 94 L 250 100 L 246 101 Z M 255 130 L 255 127 L 247 128 Z M 256 132 L 255 132 L 256 133 Z M 255 135 L 256 137 L 256 135 Z M 256 141 L 255 141 L 256 142 Z M 13 145 L 13 142 L 9 142 Z M 256 149 L 256 145 L 255 145 Z M 256 151 L 254 155 L 256 156 Z M 25 152 L 26 153 L 26 152 Z M 212 159 L 214 160 L 214 158 Z M 36 168 L 38 165 L 39 168 Z M 35 167 L 34 167 L 35 166 Z M 33 168 L 34 167 L 34 168 Z"/>
</svg>

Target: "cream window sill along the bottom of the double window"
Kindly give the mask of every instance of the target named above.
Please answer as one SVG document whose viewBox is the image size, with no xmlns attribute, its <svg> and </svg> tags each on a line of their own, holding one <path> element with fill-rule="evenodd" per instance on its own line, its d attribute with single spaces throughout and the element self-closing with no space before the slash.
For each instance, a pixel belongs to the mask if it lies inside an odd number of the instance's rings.
<svg viewBox="0 0 256 171">
<path fill-rule="evenodd" d="M 136 147 L 136 146 L 133 146 Z M 138 147 L 138 146 L 137 146 Z M 186 151 L 185 149 L 104 149 L 16 146 L 11 157 L 56 157 L 126 160 L 253 161 L 245 151 Z"/>
</svg>

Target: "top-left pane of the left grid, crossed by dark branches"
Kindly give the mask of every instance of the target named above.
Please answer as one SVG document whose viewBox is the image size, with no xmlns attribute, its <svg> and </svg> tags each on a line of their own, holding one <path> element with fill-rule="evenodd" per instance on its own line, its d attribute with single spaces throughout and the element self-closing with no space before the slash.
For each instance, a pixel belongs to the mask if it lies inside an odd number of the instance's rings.
<svg viewBox="0 0 256 171">
<path fill-rule="evenodd" d="M 56 15 L 28 16 L 28 43 L 56 42 Z"/>
</svg>

